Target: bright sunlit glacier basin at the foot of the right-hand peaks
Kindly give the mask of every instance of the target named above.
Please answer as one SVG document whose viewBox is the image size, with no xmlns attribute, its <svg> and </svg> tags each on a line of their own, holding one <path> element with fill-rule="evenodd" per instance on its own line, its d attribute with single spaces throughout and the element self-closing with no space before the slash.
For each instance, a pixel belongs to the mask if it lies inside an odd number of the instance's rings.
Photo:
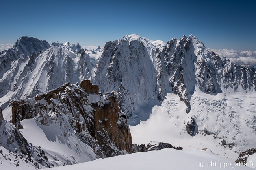
<svg viewBox="0 0 256 170">
<path fill-rule="evenodd" d="M 167 93 L 161 106 L 152 108 L 147 121 L 130 126 L 132 142 L 161 141 L 182 146 L 184 150 L 209 148 L 235 161 L 240 152 L 255 148 L 255 103 L 255 92 L 213 96 L 196 89 L 191 99 L 192 110 L 187 114 L 184 102 L 177 95 Z M 191 117 L 197 123 L 194 136 L 186 133 Z M 233 148 L 222 146 L 223 139 L 233 144 Z"/>
</svg>

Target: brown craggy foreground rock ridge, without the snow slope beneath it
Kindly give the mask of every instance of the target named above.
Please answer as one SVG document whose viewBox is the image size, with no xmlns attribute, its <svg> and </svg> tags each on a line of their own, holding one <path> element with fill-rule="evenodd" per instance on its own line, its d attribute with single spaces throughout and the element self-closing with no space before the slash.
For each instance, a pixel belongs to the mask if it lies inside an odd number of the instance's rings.
<svg viewBox="0 0 256 170">
<path fill-rule="evenodd" d="M 22 128 L 20 121 L 23 119 L 36 116 L 46 126 L 56 117 L 67 117 L 68 122 L 63 124 L 69 124 L 79 139 L 93 148 L 97 157 L 133 152 L 127 118 L 116 97 L 110 93 L 101 95 L 98 86 L 92 85 L 90 80 L 82 81 L 79 86 L 66 83 L 35 99 L 14 101 L 12 113 L 12 123 L 17 128 Z"/>
</svg>

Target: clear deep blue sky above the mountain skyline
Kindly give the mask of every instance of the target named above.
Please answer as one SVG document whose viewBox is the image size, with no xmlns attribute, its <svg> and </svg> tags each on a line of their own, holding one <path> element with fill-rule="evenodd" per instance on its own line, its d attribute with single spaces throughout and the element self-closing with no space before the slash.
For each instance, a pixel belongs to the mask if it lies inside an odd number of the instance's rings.
<svg viewBox="0 0 256 170">
<path fill-rule="evenodd" d="M 136 33 L 167 42 L 195 35 L 206 48 L 256 51 L 256 0 L 0 0 L 0 44 L 23 36 L 100 45 Z"/>
</svg>

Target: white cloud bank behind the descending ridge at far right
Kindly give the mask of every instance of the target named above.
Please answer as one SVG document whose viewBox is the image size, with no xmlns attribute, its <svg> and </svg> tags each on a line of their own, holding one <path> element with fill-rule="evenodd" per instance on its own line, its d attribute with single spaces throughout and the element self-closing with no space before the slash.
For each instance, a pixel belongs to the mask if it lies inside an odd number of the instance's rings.
<svg viewBox="0 0 256 170">
<path fill-rule="evenodd" d="M 225 56 L 231 62 L 256 68 L 256 51 L 238 51 L 234 49 L 208 49 L 214 51 L 220 57 Z"/>
</svg>

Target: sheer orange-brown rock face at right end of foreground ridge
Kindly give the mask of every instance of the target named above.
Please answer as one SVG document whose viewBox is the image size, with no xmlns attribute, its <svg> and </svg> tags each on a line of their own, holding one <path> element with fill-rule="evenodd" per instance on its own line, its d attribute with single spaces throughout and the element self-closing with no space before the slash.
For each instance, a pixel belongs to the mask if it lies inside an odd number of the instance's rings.
<svg viewBox="0 0 256 170">
<path fill-rule="evenodd" d="M 128 127 L 126 115 L 120 113 L 116 97 L 111 95 L 110 102 L 102 106 L 94 107 L 95 130 L 97 132 L 106 131 L 113 143 L 121 150 L 132 153 L 132 136 Z M 106 142 L 101 133 L 96 133 L 96 139 L 101 145 Z M 111 147 L 105 146 L 104 150 L 111 155 Z"/>
</svg>

